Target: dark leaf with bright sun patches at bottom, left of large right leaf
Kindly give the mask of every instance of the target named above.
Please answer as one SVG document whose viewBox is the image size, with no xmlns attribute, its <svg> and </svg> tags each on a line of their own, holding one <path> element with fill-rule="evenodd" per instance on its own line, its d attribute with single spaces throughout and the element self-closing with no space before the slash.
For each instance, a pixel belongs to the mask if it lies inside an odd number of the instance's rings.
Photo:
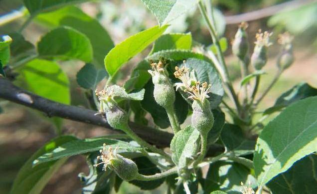
<svg viewBox="0 0 317 194">
<path fill-rule="evenodd" d="M 257 187 L 256 179 L 251 175 L 251 170 L 245 166 L 231 161 L 217 161 L 210 164 L 204 181 L 204 193 L 220 190 L 228 194 L 241 194 L 241 183 L 252 188 Z"/>
</svg>

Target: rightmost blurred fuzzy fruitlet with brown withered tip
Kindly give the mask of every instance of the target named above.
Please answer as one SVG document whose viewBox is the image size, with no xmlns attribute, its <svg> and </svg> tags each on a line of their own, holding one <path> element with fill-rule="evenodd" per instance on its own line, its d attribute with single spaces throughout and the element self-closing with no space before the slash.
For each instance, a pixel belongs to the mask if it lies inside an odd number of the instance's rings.
<svg viewBox="0 0 317 194">
<path fill-rule="evenodd" d="M 277 65 L 280 69 L 287 69 L 294 62 L 293 38 L 288 32 L 279 35 L 278 42 L 282 45 L 282 53 L 279 55 Z"/>
</svg>

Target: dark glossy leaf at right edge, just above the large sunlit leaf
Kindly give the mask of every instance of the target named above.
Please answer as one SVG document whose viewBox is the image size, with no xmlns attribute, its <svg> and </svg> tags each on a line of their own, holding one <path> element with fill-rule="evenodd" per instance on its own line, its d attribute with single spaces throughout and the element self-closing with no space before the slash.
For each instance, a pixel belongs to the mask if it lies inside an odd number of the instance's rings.
<svg viewBox="0 0 317 194">
<path fill-rule="evenodd" d="M 311 96 L 317 96 L 317 89 L 310 86 L 308 83 L 302 82 L 290 90 L 284 92 L 276 101 L 274 106 L 266 109 L 264 114 L 271 114 L 279 111 L 290 104 Z"/>
</svg>

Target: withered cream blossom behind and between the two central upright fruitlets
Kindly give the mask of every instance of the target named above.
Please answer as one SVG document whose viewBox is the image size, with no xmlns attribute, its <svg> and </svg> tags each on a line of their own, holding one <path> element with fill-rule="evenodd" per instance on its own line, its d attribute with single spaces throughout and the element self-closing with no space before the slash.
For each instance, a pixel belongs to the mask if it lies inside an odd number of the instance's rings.
<svg viewBox="0 0 317 194">
<path fill-rule="evenodd" d="M 183 90 L 185 90 L 186 88 L 190 88 L 191 85 L 197 81 L 195 78 L 195 72 L 193 70 L 189 72 L 189 69 L 186 67 L 186 65 L 180 68 L 176 66 L 175 70 L 176 71 L 174 72 L 174 76 L 181 81 L 174 84 L 174 86 L 176 86 L 176 91 L 178 90 L 178 88 L 181 88 Z"/>
</svg>

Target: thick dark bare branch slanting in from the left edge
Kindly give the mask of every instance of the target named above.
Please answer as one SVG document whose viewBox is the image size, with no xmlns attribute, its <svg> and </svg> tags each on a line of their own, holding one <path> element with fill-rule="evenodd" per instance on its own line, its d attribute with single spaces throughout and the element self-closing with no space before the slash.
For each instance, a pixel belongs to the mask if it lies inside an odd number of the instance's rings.
<svg viewBox="0 0 317 194">
<path fill-rule="evenodd" d="M 0 98 L 44 112 L 48 117 L 56 116 L 112 129 L 106 119 L 100 115 L 96 116 L 96 112 L 93 110 L 65 105 L 37 96 L 14 86 L 9 80 L 6 80 L 1 76 Z M 170 133 L 141 126 L 132 122 L 130 123 L 130 127 L 142 139 L 158 147 L 169 147 L 170 141 L 173 137 Z"/>
</svg>

